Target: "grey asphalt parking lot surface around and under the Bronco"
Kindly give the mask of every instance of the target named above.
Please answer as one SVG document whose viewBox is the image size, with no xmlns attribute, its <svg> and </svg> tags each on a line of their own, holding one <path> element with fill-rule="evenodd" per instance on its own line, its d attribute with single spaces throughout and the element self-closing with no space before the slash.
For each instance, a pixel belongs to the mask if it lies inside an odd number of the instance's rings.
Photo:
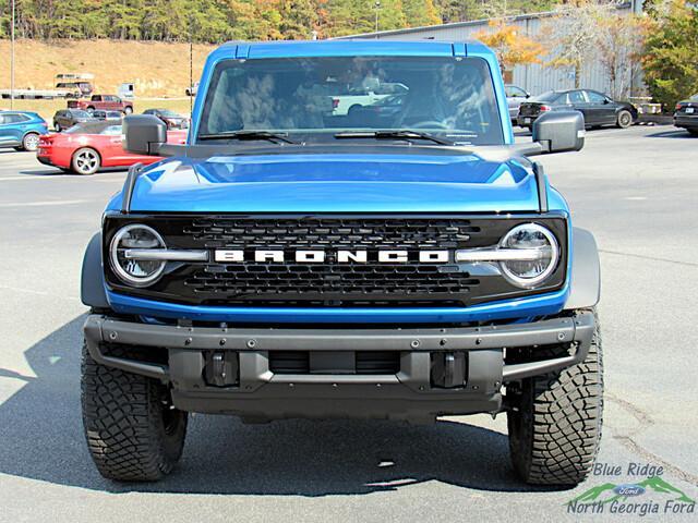
<svg viewBox="0 0 698 523">
<path fill-rule="evenodd" d="M 601 248 L 599 463 L 621 476 L 606 470 L 573 490 L 522 485 L 505 416 L 424 427 L 195 415 L 170 477 L 119 485 L 99 476 L 83 440 L 79 280 L 125 173 L 70 175 L 0 151 L 0 521 L 635 521 L 639 512 L 569 514 L 565 504 L 637 481 L 631 463 L 663 467 L 698 499 L 698 138 L 672 126 L 601 130 L 581 153 L 541 161 Z M 642 521 L 697 518 L 664 513 L 661 492 L 637 498 L 650 500 L 660 513 Z"/>
</svg>

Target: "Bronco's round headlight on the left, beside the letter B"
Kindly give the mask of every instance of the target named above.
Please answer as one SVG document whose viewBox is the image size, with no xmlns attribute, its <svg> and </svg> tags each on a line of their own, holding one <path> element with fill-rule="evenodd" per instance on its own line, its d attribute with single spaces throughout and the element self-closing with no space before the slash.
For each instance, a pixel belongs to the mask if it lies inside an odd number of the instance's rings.
<svg viewBox="0 0 698 523">
<path fill-rule="evenodd" d="M 137 259 L 128 256 L 131 250 L 165 248 L 163 238 L 152 228 L 133 223 L 113 235 L 109 246 L 109 259 L 116 275 L 133 287 L 147 287 L 160 277 L 166 262 Z"/>
</svg>

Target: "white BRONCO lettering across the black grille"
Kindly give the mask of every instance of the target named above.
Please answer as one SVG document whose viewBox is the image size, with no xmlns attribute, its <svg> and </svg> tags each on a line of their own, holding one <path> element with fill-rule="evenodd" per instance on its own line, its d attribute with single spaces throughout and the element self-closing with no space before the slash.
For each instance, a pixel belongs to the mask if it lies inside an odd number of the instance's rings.
<svg viewBox="0 0 698 523">
<path fill-rule="evenodd" d="M 369 251 L 336 251 L 334 260 L 337 264 L 365 264 L 369 262 Z M 373 253 L 372 253 L 373 254 Z M 287 253 L 279 250 L 256 250 L 245 252 L 242 250 L 216 250 L 214 259 L 224 264 L 240 262 L 296 262 L 297 264 L 323 264 L 327 258 L 325 251 L 294 251 Z M 422 264 L 447 264 L 448 251 L 376 251 L 374 258 L 381 264 L 406 264 L 410 260 L 419 260 Z"/>
</svg>

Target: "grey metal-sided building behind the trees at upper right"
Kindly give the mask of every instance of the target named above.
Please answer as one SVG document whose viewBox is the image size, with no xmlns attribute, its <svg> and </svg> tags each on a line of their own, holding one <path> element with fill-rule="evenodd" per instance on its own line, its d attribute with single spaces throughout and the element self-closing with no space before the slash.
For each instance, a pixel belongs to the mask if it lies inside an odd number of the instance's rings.
<svg viewBox="0 0 698 523">
<path fill-rule="evenodd" d="M 616 13 L 618 16 L 624 16 L 630 12 L 638 12 L 639 2 L 626 2 L 617 5 Z M 555 12 L 544 12 L 535 14 L 522 14 L 518 16 L 506 17 L 507 25 L 515 25 L 520 27 L 520 33 L 535 39 L 535 35 L 540 32 L 545 19 L 554 16 Z M 366 33 L 362 35 L 356 35 L 353 38 L 376 38 L 384 40 L 413 40 L 413 39 L 436 39 L 436 40 L 450 40 L 462 41 L 471 40 L 474 36 L 488 29 L 489 20 L 477 20 L 472 22 L 458 22 L 453 24 L 432 25 L 426 27 L 411 27 L 406 29 L 384 31 L 378 33 Z M 352 37 L 347 37 L 352 38 Z M 636 70 L 639 68 L 635 68 Z M 642 89 L 641 78 L 630 77 L 630 73 L 627 72 L 628 77 L 624 84 L 626 88 L 622 93 L 616 93 L 616 96 L 626 98 L 633 95 L 637 96 Z M 507 74 L 507 76 L 509 76 Z M 637 76 L 637 73 L 636 73 Z M 545 90 L 551 89 L 570 89 L 575 87 L 574 72 L 565 69 L 554 69 L 546 66 L 544 63 L 517 65 L 512 71 L 510 77 L 507 78 L 510 83 L 524 87 L 529 93 L 537 95 Z M 580 86 L 597 89 L 602 93 L 611 93 L 611 81 L 604 68 L 598 60 L 591 60 L 587 63 L 580 77 Z"/>
</svg>

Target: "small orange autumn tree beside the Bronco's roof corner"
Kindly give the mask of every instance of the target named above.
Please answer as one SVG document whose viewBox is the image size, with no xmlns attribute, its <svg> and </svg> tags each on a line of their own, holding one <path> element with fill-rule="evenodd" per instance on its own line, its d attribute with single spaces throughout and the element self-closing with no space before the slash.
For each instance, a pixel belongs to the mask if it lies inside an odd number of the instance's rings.
<svg viewBox="0 0 698 523">
<path fill-rule="evenodd" d="M 503 20 L 490 21 L 488 29 L 476 34 L 476 38 L 492 48 L 503 71 L 512 70 L 515 65 L 540 63 L 540 57 L 545 53 L 543 46 Z"/>
</svg>

